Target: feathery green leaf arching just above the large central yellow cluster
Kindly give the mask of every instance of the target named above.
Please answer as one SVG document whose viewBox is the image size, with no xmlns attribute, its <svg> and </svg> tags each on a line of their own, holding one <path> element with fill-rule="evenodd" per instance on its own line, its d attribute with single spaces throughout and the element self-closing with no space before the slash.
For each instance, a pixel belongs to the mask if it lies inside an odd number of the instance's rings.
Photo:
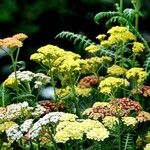
<svg viewBox="0 0 150 150">
<path fill-rule="evenodd" d="M 73 45 L 77 46 L 78 49 L 85 49 L 85 47 L 94 44 L 94 42 L 87 38 L 85 35 L 75 34 L 69 31 L 62 31 L 56 35 L 55 38 L 68 39 L 73 42 Z"/>
</svg>

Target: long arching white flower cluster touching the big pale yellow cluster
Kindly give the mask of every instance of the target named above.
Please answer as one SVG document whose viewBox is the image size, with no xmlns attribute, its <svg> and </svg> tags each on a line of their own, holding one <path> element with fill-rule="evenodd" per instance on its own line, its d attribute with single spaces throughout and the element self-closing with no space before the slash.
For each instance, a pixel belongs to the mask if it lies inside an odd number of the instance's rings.
<svg viewBox="0 0 150 150">
<path fill-rule="evenodd" d="M 35 137 L 37 137 L 40 130 L 42 129 L 42 126 L 47 125 L 48 123 L 56 123 L 57 121 L 59 121 L 62 115 L 64 115 L 63 112 L 50 112 L 44 117 L 40 118 L 29 130 L 28 138 L 34 139 Z"/>
</svg>

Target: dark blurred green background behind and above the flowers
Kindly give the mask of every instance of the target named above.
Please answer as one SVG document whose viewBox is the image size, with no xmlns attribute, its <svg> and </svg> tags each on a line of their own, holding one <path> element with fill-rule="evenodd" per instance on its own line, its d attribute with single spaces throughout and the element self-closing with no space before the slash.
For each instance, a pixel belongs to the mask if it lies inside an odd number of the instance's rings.
<svg viewBox="0 0 150 150">
<path fill-rule="evenodd" d="M 61 31 L 82 33 L 94 39 L 107 30 L 105 22 L 97 25 L 93 18 L 100 11 L 115 9 L 118 0 L 0 0 L 0 38 L 23 32 L 29 36 L 24 42 L 19 60 L 26 62 L 26 70 L 35 63 L 30 55 L 39 47 L 54 44 L 73 50 L 69 42 L 55 39 Z M 125 7 L 132 7 L 126 0 Z M 150 42 L 150 0 L 143 0 L 139 29 Z M 0 82 L 10 73 L 10 59 L 0 52 Z"/>
</svg>

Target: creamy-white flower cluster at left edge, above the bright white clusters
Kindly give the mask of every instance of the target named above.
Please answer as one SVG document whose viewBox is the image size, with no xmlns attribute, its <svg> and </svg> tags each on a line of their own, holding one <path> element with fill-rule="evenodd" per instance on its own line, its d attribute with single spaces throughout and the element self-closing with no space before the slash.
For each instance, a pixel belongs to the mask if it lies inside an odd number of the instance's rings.
<svg viewBox="0 0 150 150">
<path fill-rule="evenodd" d="M 32 110 L 32 107 L 29 107 L 28 102 L 24 101 L 22 103 L 17 104 L 11 104 L 6 107 L 6 112 L 3 113 L 3 116 L 1 116 L 1 119 L 11 120 L 19 117 L 19 115 L 22 113 L 22 110 L 26 109 L 28 111 Z"/>
</svg>

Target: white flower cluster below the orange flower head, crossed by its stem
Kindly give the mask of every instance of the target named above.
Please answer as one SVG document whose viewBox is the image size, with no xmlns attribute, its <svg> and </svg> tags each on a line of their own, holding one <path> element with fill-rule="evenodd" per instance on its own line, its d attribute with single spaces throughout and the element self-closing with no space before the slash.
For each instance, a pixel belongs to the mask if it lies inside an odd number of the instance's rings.
<svg viewBox="0 0 150 150">
<path fill-rule="evenodd" d="M 9 78 L 15 78 L 13 72 Z M 34 82 L 34 88 L 39 88 L 50 81 L 50 77 L 43 73 L 33 73 L 31 71 L 17 71 L 17 79 L 21 82 Z"/>
</svg>

